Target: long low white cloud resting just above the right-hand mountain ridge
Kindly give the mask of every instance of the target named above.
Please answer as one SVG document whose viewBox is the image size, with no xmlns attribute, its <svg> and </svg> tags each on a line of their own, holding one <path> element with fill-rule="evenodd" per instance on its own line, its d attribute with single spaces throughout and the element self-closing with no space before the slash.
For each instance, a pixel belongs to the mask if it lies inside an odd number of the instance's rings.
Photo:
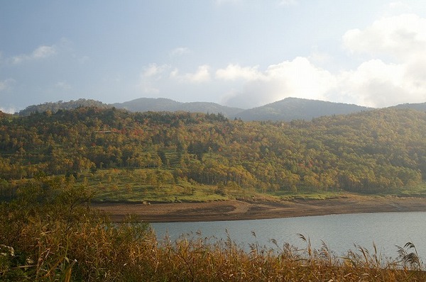
<svg viewBox="0 0 426 282">
<path fill-rule="evenodd" d="M 421 103 L 426 101 L 426 57 L 423 58 L 417 60 L 417 64 L 368 60 L 354 70 L 332 74 L 305 57 L 297 57 L 293 61 L 269 66 L 256 79 L 246 76 L 240 90 L 224 95 L 222 103 L 251 108 L 286 97 L 371 107 Z"/>
</svg>

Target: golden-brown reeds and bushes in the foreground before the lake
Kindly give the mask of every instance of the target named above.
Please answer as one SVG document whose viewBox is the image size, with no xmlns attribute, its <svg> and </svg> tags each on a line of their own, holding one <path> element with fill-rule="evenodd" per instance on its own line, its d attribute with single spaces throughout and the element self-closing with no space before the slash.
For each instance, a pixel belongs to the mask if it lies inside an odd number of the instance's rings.
<svg viewBox="0 0 426 282">
<path fill-rule="evenodd" d="M 412 244 L 398 259 L 323 244 L 251 251 L 231 238 L 157 239 L 146 223 L 113 224 L 87 205 L 87 189 L 38 179 L 0 205 L 0 281 L 425 281 Z"/>
</svg>

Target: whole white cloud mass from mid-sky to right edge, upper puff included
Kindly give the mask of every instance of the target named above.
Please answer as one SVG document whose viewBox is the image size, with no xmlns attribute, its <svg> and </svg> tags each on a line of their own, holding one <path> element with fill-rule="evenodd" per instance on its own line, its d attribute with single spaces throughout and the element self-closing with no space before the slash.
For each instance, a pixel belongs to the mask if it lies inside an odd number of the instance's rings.
<svg viewBox="0 0 426 282">
<path fill-rule="evenodd" d="M 165 79 L 176 87 L 214 86 L 222 93 L 219 103 L 241 108 L 286 97 L 371 107 L 426 101 L 426 18 L 413 13 L 383 16 L 364 29 L 347 30 L 342 35 L 342 49 L 346 50 L 347 60 L 359 62 L 353 69 L 331 72 L 319 67 L 316 63 L 321 62 L 314 50 L 310 56 L 264 69 L 235 63 L 213 69 L 202 64 L 195 72 L 181 72 L 170 65 L 151 64 L 141 75 L 141 85 L 145 93 L 159 95 Z M 186 48 L 173 50 L 175 55 L 185 53 Z M 324 52 L 321 55 L 332 57 Z"/>
</svg>

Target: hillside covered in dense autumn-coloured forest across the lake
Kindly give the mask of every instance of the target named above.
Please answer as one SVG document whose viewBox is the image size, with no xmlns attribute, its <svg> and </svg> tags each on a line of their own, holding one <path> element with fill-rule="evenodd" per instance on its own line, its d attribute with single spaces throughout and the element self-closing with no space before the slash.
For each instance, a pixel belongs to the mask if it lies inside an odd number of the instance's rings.
<svg viewBox="0 0 426 282">
<path fill-rule="evenodd" d="M 0 185 L 116 168 L 145 169 L 141 181 L 158 186 L 376 193 L 426 177 L 425 134 L 426 113 L 410 109 L 290 123 L 116 108 L 2 114 Z"/>
</svg>

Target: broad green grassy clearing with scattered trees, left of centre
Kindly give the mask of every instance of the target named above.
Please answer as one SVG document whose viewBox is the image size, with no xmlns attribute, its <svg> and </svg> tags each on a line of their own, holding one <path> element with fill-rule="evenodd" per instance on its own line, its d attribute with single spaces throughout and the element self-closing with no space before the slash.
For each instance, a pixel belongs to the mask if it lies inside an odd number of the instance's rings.
<svg viewBox="0 0 426 282">
<path fill-rule="evenodd" d="M 77 184 L 94 191 L 93 201 L 111 202 L 202 202 L 224 201 L 216 186 L 175 179 L 167 169 L 103 169 L 81 175 Z"/>
</svg>

